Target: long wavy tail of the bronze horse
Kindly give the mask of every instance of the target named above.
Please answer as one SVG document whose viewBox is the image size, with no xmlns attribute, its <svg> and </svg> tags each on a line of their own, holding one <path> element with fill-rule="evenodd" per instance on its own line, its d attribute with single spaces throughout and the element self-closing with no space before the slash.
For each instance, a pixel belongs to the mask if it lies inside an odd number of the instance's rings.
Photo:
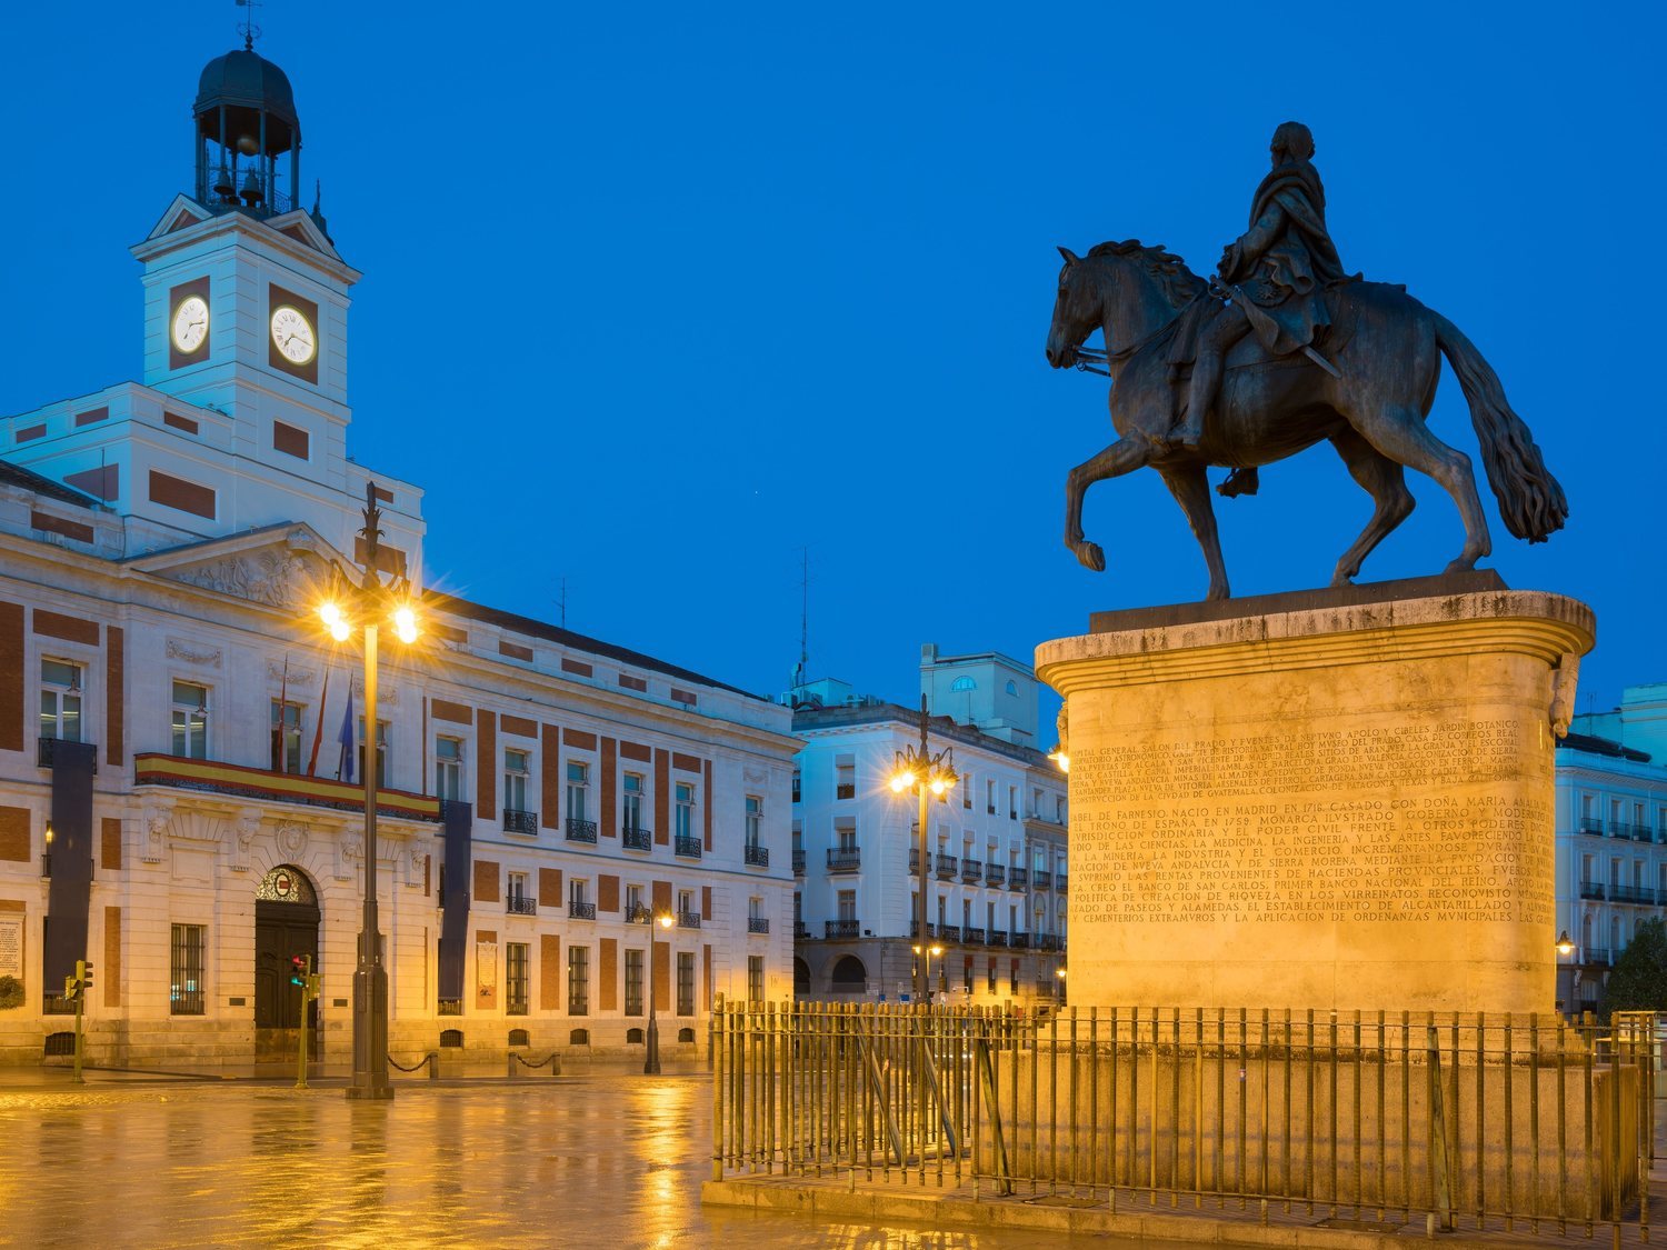
<svg viewBox="0 0 1667 1250">
<path fill-rule="evenodd" d="M 1557 478 L 1545 468 L 1534 435 L 1505 400 L 1494 367 L 1475 350 L 1459 327 L 1439 313 L 1435 317 L 1435 342 L 1447 355 L 1447 363 L 1459 375 L 1459 385 L 1470 403 L 1470 423 L 1482 443 L 1482 465 L 1487 483 L 1499 500 L 1499 515 L 1519 538 L 1530 543 L 1545 542 L 1569 518 L 1569 502 Z"/>
</svg>

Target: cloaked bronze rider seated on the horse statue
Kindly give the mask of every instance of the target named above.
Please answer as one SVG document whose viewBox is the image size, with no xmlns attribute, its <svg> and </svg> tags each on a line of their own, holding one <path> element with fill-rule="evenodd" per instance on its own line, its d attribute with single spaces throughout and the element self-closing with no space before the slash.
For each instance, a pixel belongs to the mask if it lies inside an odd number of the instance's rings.
<svg viewBox="0 0 1667 1250">
<path fill-rule="evenodd" d="M 1250 205 L 1250 228 L 1222 252 L 1220 282 L 1234 290 L 1200 295 L 1182 313 L 1169 352 L 1170 380 L 1192 362 L 1185 408 L 1170 445 L 1195 450 L 1204 418 L 1215 403 L 1227 350 L 1252 328 L 1272 357 L 1310 347 L 1330 325 L 1325 288 L 1345 282 L 1337 245 L 1325 230 L 1325 188 L 1309 163 L 1314 135 L 1300 122 L 1274 132 L 1274 172 L 1262 178 Z M 1212 283 L 1212 292 L 1220 283 Z M 1255 305 L 1247 312 L 1240 297 Z"/>
</svg>

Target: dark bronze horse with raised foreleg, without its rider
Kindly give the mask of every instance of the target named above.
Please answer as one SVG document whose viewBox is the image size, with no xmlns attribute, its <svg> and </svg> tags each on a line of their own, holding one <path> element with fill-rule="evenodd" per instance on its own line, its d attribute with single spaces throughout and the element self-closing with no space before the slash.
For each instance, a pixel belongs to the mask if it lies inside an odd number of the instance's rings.
<svg viewBox="0 0 1667 1250">
<path fill-rule="evenodd" d="M 1219 487 L 1224 495 L 1252 493 L 1245 477 L 1257 465 L 1284 460 L 1329 440 L 1350 477 L 1377 508 L 1332 575 L 1345 585 L 1384 537 L 1412 513 L 1404 468 L 1435 478 L 1464 518 L 1465 542 L 1447 572 L 1474 568 L 1492 550 L 1470 457 L 1425 427 L 1440 355 L 1445 353 L 1470 405 L 1489 485 L 1505 527 L 1519 538 L 1544 542 L 1569 515 L 1562 487 L 1547 472 L 1534 435 L 1505 402 L 1499 377 L 1452 322 L 1430 312 L 1400 287 L 1349 282 L 1334 288 L 1330 340 L 1320 348 L 1339 370 L 1332 377 L 1307 357 L 1269 358 L 1255 335 L 1227 357 L 1220 398 L 1197 450 L 1170 445 L 1174 393 L 1169 342 L 1177 315 L 1195 298 L 1210 298 L 1205 283 L 1160 247 L 1100 243 L 1087 257 L 1060 248 L 1054 323 L 1047 358 L 1055 368 L 1079 363 L 1084 340 L 1105 335 L 1112 375 L 1112 427 L 1117 442 L 1077 465 L 1065 478 L 1065 545 L 1100 572 L 1105 555 L 1082 533 L 1082 497 L 1090 485 L 1150 465 L 1162 477 L 1204 548 L 1210 568 L 1209 598 L 1229 598 L 1227 570 L 1215 533 L 1205 470 L 1239 470 Z"/>
</svg>

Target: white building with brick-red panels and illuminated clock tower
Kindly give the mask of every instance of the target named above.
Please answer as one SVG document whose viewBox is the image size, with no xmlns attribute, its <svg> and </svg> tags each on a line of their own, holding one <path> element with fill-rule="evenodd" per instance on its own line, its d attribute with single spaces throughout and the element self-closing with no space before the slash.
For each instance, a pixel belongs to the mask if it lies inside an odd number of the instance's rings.
<svg viewBox="0 0 1667 1250">
<path fill-rule="evenodd" d="M 205 128 L 262 102 L 293 120 L 253 52 L 203 72 Z M 715 995 L 785 997 L 790 712 L 423 595 L 422 490 L 347 458 L 358 273 L 323 218 L 182 195 L 133 253 L 143 380 L 0 432 L 0 1060 L 62 1045 L 67 958 L 93 1062 L 290 1053 L 305 953 L 345 1062 L 367 730 L 358 635 L 315 608 L 367 490 L 422 618 L 382 632 L 372 750 L 395 1057 L 635 1047 L 650 993 L 695 1045 Z"/>
</svg>

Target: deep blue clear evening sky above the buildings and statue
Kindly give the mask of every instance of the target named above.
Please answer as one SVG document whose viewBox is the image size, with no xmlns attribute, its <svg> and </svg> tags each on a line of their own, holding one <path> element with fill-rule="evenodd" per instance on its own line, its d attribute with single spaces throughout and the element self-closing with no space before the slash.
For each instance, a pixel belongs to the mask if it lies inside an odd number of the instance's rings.
<svg viewBox="0 0 1667 1250">
<path fill-rule="evenodd" d="M 0 413 L 140 367 L 125 248 L 190 182 L 230 0 L 0 17 L 12 305 Z M 562 7 L 272 0 L 303 175 L 362 268 L 350 450 L 427 487 L 430 573 L 778 692 L 915 697 L 919 645 L 1029 657 L 1100 608 L 1199 598 L 1154 473 L 1089 495 L 1105 383 L 1042 357 L 1055 243 L 1207 272 L 1289 118 L 1344 263 L 1504 378 L 1569 528 L 1489 562 L 1599 615 L 1582 710 L 1667 680 L 1659 7 Z M 447 352 L 412 352 L 418 325 Z M 68 330 L 67 330 L 68 327 Z M 1457 382 L 1430 417 L 1475 453 Z M 1217 473 L 1219 477 L 1219 473 Z M 1434 483 L 1364 578 L 1460 545 Z M 1324 585 L 1367 498 L 1325 448 L 1222 502 L 1240 595 Z"/>
</svg>

